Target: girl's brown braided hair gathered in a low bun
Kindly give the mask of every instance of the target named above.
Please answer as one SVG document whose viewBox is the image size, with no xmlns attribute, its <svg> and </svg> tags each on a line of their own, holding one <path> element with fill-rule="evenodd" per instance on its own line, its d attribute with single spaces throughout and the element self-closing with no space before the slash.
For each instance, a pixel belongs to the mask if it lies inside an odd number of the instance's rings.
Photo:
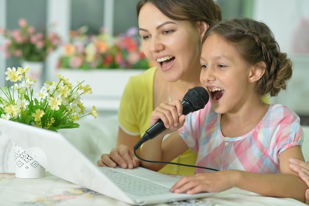
<svg viewBox="0 0 309 206">
<path fill-rule="evenodd" d="M 231 18 L 218 22 L 207 29 L 202 42 L 212 34 L 231 42 L 248 65 L 263 61 L 265 74 L 257 82 L 256 92 L 261 97 L 270 93 L 276 96 L 286 89 L 292 77 L 292 61 L 280 52 L 270 28 L 263 22 L 249 18 Z"/>
</svg>

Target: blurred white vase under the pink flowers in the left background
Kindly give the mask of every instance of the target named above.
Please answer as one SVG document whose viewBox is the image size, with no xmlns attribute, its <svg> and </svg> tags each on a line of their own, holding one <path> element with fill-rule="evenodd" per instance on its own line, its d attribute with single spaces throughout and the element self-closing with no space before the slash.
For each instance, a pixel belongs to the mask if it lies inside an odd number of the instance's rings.
<svg viewBox="0 0 309 206">
<path fill-rule="evenodd" d="M 25 68 L 26 66 L 30 69 L 26 75 L 37 81 L 32 85 L 34 93 L 39 92 L 43 85 L 44 62 L 21 61 L 21 67 Z"/>
</svg>

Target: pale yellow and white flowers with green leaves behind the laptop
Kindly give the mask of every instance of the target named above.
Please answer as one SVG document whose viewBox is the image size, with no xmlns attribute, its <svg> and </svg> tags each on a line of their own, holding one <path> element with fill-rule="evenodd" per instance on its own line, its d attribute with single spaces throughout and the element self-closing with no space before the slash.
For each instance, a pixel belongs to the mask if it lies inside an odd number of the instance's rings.
<svg viewBox="0 0 309 206">
<path fill-rule="evenodd" d="M 26 76 L 28 71 L 29 67 L 7 68 L 6 87 L 0 88 L 2 119 L 57 131 L 79 127 L 76 121 L 87 115 L 97 118 L 95 106 L 91 112 L 84 114 L 85 107 L 81 102 L 81 95 L 92 93 L 89 85 L 77 82 L 73 86 L 67 78 L 58 74 L 58 82 L 46 81 L 34 94 L 32 86 L 36 81 Z M 13 82 L 10 88 L 8 81 Z"/>
</svg>

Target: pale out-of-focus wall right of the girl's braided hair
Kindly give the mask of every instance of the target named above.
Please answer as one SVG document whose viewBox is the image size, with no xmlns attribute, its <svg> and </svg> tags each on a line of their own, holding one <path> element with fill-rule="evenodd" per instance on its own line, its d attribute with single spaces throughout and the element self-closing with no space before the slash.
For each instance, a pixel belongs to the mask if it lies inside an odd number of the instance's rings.
<svg viewBox="0 0 309 206">
<path fill-rule="evenodd" d="M 287 52 L 294 62 L 287 91 L 281 91 L 272 102 L 284 104 L 299 115 L 309 115 L 309 52 L 292 51 L 300 20 L 309 21 L 309 0 L 255 0 L 253 18 L 270 27 L 281 51 Z M 308 43 L 309 32 L 298 40 Z"/>
</svg>

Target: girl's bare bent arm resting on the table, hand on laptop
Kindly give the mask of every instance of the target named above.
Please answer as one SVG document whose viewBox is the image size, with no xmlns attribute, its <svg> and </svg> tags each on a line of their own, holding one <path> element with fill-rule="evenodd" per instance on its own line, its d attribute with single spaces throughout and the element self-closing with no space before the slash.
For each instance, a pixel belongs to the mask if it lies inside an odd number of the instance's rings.
<svg viewBox="0 0 309 206">
<path fill-rule="evenodd" d="M 288 197 L 305 202 L 308 188 L 298 174 L 289 168 L 289 158 L 304 160 L 301 147 L 294 146 L 280 155 L 280 174 L 261 174 L 240 170 L 200 173 L 180 179 L 172 188 L 175 193 L 221 192 L 232 187 L 270 197 Z"/>
</svg>

